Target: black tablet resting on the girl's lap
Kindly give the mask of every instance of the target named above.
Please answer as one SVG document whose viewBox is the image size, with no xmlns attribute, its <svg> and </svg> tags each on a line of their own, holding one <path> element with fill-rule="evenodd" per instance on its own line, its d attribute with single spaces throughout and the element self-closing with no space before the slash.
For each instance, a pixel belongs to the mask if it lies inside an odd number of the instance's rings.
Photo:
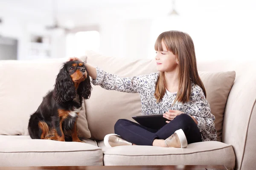
<svg viewBox="0 0 256 170">
<path fill-rule="evenodd" d="M 132 116 L 132 119 L 134 119 L 140 125 L 156 130 L 161 129 L 167 124 L 166 121 L 169 121 L 163 117 L 163 114 Z"/>
</svg>

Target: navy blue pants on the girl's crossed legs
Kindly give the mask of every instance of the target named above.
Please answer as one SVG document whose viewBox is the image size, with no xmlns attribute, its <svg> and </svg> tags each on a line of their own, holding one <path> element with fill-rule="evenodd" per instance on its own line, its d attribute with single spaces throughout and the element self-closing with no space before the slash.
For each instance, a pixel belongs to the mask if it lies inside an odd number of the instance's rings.
<svg viewBox="0 0 256 170">
<path fill-rule="evenodd" d="M 185 133 L 188 144 L 202 141 L 196 123 L 185 113 L 176 116 L 160 130 L 150 129 L 127 119 L 119 119 L 114 126 L 115 133 L 122 139 L 133 144 L 149 146 L 152 146 L 154 139 L 167 139 L 179 129 Z"/>
</svg>

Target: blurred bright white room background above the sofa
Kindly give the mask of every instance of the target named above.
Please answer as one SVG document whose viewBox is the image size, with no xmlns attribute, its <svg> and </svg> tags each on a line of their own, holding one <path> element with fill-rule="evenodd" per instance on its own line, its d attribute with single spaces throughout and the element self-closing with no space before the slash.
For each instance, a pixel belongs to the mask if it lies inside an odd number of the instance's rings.
<svg viewBox="0 0 256 170">
<path fill-rule="evenodd" d="M 163 31 L 188 33 L 200 60 L 255 60 L 255 0 L 0 0 L 0 59 L 153 58 Z"/>
</svg>

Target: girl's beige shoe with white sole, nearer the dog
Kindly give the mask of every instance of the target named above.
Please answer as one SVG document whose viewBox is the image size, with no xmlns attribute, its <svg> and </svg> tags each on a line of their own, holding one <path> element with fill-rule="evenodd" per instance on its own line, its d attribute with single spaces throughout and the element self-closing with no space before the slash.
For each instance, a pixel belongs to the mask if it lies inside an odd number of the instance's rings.
<svg viewBox="0 0 256 170">
<path fill-rule="evenodd" d="M 117 134 L 108 134 L 104 137 L 104 144 L 106 147 L 115 147 L 115 146 L 122 146 L 122 145 L 132 145 L 131 142 L 122 139 Z"/>
</svg>

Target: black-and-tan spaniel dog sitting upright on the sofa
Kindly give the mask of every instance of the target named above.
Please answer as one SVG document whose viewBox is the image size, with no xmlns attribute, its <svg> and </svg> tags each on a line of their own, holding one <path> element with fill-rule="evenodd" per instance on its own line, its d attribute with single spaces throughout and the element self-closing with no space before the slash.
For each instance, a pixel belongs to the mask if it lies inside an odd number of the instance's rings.
<svg viewBox="0 0 256 170">
<path fill-rule="evenodd" d="M 41 105 L 29 119 L 32 139 L 65 141 L 71 132 L 72 142 L 81 142 L 76 122 L 83 99 L 89 99 L 92 86 L 83 62 L 68 61 L 60 69 L 54 89 L 43 97 Z"/>
</svg>

